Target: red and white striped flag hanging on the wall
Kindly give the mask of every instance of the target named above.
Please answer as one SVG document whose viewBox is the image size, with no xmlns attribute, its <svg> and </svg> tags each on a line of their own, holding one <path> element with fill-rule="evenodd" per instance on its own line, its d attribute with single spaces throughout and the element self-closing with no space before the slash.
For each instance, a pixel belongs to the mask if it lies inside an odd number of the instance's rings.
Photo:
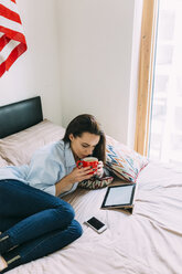
<svg viewBox="0 0 182 274">
<path fill-rule="evenodd" d="M 15 0 L 0 0 L 0 77 L 26 50 Z"/>
</svg>

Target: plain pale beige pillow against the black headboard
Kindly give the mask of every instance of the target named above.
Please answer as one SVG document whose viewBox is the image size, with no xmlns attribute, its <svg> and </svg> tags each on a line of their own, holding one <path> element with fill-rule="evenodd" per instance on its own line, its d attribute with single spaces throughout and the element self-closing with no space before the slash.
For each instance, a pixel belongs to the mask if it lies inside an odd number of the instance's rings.
<svg viewBox="0 0 182 274">
<path fill-rule="evenodd" d="M 9 165 L 29 164 L 33 152 L 63 138 L 65 129 L 47 119 L 20 133 L 0 139 L 0 156 Z"/>
</svg>

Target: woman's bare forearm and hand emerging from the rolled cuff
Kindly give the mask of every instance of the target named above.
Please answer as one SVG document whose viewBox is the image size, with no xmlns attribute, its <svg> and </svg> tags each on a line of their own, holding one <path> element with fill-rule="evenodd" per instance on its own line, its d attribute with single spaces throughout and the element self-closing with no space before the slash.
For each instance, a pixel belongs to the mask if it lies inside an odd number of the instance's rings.
<svg viewBox="0 0 182 274">
<path fill-rule="evenodd" d="M 75 182 L 79 182 L 83 180 L 88 180 L 89 178 L 92 178 L 94 175 L 89 175 L 89 172 L 93 169 L 90 169 L 90 167 L 86 167 L 86 168 L 74 168 L 73 171 L 65 176 L 64 178 L 62 178 L 58 182 L 56 182 L 55 185 L 55 196 L 60 196 L 61 193 L 65 192 L 69 186 L 69 188 L 72 188 L 73 183 Z"/>
</svg>

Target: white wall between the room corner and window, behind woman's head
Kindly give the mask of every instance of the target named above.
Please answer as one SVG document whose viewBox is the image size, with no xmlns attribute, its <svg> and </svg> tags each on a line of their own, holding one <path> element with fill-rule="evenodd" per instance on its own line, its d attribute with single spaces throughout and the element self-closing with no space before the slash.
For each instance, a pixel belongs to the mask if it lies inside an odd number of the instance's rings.
<svg viewBox="0 0 182 274">
<path fill-rule="evenodd" d="M 81 113 L 92 113 L 108 135 L 132 144 L 133 136 L 128 135 L 133 135 L 136 120 L 129 118 L 131 78 L 136 81 L 131 64 L 137 62 L 135 0 L 57 3 L 63 125 Z"/>
</svg>

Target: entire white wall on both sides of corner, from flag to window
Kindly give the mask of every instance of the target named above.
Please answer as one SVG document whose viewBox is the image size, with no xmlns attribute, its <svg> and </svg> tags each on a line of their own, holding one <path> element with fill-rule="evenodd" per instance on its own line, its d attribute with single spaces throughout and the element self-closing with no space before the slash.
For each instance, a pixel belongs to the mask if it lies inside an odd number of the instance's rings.
<svg viewBox="0 0 182 274">
<path fill-rule="evenodd" d="M 0 105 L 41 95 L 44 117 L 81 113 L 133 146 L 142 0 L 17 0 L 28 51 L 0 78 Z"/>
</svg>

